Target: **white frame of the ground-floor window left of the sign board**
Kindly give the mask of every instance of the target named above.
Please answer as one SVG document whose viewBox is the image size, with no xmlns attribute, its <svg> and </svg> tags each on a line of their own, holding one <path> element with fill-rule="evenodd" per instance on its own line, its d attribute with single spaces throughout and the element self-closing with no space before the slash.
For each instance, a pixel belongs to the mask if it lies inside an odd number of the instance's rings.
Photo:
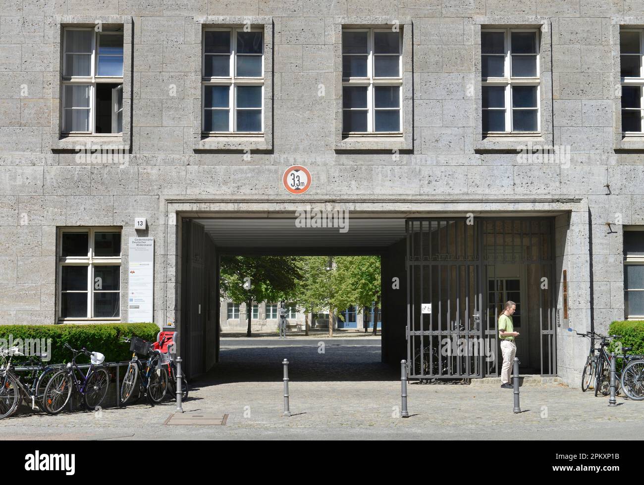
<svg viewBox="0 0 644 485">
<path fill-rule="evenodd" d="M 71 256 L 63 257 L 62 252 L 62 235 L 64 233 L 88 233 L 88 255 L 87 256 Z M 97 232 L 118 232 L 121 235 L 121 253 L 118 256 L 95 256 L 94 255 L 94 246 L 95 246 L 95 233 Z M 121 293 L 122 293 L 122 253 L 123 253 L 123 233 L 120 228 L 114 227 L 79 227 L 79 228 L 61 228 L 58 231 L 58 251 L 57 251 L 57 260 L 58 260 L 58 277 L 57 277 L 57 296 L 58 296 L 58 309 L 57 309 L 57 320 L 59 322 L 79 322 L 79 321 L 110 321 L 110 322 L 120 322 L 121 317 Z M 63 266 L 87 266 L 87 316 L 71 316 L 71 317 L 62 317 L 62 268 Z M 102 293 L 118 293 L 118 316 L 106 317 L 106 316 L 92 316 L 94 314 L 94 268 L 96 266 L 118 266 L 121 268 L 118 274 L 118 291 L 117 290 L 100 290 Z M 64 293 L 85 293 L 84 291 L 65 291 Z"/>
</svg>

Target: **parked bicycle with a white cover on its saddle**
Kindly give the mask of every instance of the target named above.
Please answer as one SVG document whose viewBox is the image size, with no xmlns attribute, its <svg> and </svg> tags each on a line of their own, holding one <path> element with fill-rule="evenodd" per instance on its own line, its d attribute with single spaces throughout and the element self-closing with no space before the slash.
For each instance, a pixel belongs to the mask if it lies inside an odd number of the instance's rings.
<svg viewBox="0 0 644 485">
<path fill-rule="evenodd" d="M 100 352 L 90 352 L 85 347 L 77 351 L 67 343 L 64 346 L 72 352 L 73 358 L 67 363 L 65 369 L 56 372 L 47 383 L 44 390 L 45 410 L 49 414 L 61 412 L 69 402 L 73 389 L 84 397 L 86 407 L 93 410 L 108 394 L 109 373 L 102 365 L 105 356 Z M 83 374 L 76 363 L 79 354 L 90 358 L 87 374 Z"/>
</svg>

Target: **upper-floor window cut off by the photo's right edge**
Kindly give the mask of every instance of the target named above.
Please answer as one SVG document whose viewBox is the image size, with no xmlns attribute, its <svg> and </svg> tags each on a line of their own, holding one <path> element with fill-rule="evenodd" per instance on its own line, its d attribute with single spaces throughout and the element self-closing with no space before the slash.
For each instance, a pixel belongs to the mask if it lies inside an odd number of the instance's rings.
<svg viewBox="0 0 644 485">
<path fill-rule="evenodd" d="M 621 131 L 644 131 L 644 31 L 620 30 Z"/>
</svg>

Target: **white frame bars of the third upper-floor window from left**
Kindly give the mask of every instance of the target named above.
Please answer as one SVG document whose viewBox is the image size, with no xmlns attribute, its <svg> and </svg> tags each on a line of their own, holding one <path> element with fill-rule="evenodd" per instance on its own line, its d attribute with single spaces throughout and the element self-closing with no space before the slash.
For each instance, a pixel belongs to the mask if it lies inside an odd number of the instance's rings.
<svg viewBox="0 0 644 485">
<path fill-rule="evenodd" d="M 342 86 L 366 86 L 366 109 L 357 108 L 355 111 L 367 111 L 367 131 L 345 131 L 344 123 L 342 127 L 342 134 L 344 135 L 376 135 L 376 136 L 397 136 L 403 134 L 403 34 L 398 33 L 398 54 L 377 54 L 377 55 L 390 55 L 398 56 L 398 72 L 397 77 L 374 77 L 374 38 L 375 32 L 392 32 L 391 28 L 343 28 L 342 32 L 368 32 L 367 35 L 367 62 L 366 62 L 366 77 L 343 77 Z M 365 55 L 365 54 L 345 54 L 341 53 L 344 63 L 345 55 Z M 397 86 L 399 87 L 399 100 L 397 108 L 378 108 L 378 111 L 398 111 L 400 120 L 399 131 L 374 131 L 375 130 L 375 86 Z M 351 111 L 351 108 L 342 106 L 342 113 Z M 344 119 L 344 116 L 343 116 Z"/>
</svg>

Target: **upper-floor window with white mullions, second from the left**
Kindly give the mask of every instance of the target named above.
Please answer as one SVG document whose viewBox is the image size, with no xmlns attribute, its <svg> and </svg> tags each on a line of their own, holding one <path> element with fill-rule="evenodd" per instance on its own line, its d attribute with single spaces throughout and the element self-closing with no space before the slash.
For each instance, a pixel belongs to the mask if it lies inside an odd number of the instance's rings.
<svg viewBox="0 0 644 485">
<path fill-rule="evenodd" d="M 263 30 L 203 32 L 202 132 L 263 132 Z"/>
</svg>

